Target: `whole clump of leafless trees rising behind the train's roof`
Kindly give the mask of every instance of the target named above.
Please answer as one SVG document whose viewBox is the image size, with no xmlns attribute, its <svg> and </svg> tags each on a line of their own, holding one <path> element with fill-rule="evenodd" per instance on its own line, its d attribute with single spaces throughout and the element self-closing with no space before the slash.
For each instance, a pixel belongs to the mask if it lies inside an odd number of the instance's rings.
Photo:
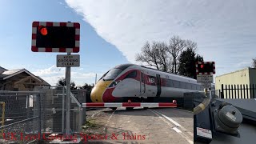
<svg viewBox="0 0 256 144">
<path fill-rule="evenodd" d="M 166 42 L 146 42 L 142 47 L 142 52 L 136 54 L 136 61 L 146 63 L 146 66 L 154 66 L 158 70 L 163 70 L 178 74 L 178 57 L 182 50 L 197 50 L 196 42 L 183 40 L 178 36 L 170 38 L 170 44 Z"/>
</svg>

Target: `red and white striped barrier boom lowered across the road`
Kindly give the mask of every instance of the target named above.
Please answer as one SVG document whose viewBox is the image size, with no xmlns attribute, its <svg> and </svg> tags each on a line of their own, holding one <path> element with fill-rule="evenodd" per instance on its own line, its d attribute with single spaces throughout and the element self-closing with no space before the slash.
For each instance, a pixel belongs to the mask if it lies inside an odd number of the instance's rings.
<svg viewBox="0 0 256 144">
<path fill-rule="evenodd" d="M 87 102 L 82 107 L 177 107 L 176 102 Z"/>
</svg>

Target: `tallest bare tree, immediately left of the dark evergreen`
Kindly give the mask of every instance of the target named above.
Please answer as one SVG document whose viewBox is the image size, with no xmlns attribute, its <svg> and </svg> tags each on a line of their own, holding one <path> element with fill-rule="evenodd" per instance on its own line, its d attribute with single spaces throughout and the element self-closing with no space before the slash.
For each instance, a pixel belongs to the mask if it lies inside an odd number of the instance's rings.
<svg viewBox="0 0 256 144">
<path fill-rule="evenodd" d="M 182 38 L 179 38 L 178 36 L 170 38 L 168 52 L 171 54 L 173 58 L 171 72 L 174 74 L 178 74 L 178 56 L 185 47 L 186 41 L 182 40 Z"/>
</svg>

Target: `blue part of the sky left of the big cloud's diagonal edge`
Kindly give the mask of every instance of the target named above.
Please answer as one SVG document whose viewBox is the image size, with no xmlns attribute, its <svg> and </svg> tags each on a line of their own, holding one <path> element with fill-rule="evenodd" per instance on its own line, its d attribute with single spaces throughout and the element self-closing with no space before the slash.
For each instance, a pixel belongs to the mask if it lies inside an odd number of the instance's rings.
<svg viewBox="0 0 256 144">
<path fill-rule="evenodd" d="M 128 61 L 111 43 L 101 38 L 82 16 L 62 1 L 0 2 L 0 66 L 6 69 L 26 68 L 45 78 L 51 84 L 65 74 L 65 68 L 56 68 L 58 53 L 34 53 L 31 47 L 32 22 L 79 22 L 81 25 L 80 67 L 72 68 L 72 80 L 78 84 L 93 83 L 95 74 Z"/>
</svg>

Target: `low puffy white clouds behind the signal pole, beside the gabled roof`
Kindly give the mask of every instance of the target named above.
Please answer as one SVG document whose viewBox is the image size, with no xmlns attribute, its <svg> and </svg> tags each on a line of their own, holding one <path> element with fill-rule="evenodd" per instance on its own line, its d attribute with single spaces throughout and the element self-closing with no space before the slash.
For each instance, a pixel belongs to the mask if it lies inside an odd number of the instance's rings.
<svg viewBox="0 0 256 144">
<path fill-rule="evenodd" d="M 43 78 L 51 86 L 55 86 L 58 79 L 65 78 L 65 71 L 65 68 L 50 66 L 46 69 L 35 70 L 32 73 Z M 91 84 L 95 82 L 95 74 L 86 73 L 82 70 L 71 70 L 71 81 L 74 81 L 77 86 L 82 86 L 84 83 Z"/>
</svg>

